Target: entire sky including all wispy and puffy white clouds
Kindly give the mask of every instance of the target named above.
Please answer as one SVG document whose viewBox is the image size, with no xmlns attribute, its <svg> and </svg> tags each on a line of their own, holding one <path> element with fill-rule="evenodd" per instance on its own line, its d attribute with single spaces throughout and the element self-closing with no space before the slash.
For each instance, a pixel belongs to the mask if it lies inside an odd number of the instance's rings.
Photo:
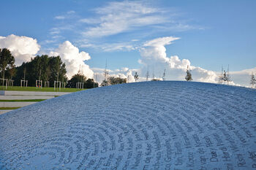
<svg viewBox="0 0 256 170">
<path fill-rule="evenodd" d="M 82 69 L 111 75 L 218 82 L 229 65 L 233 85 L 256 73 L 256 1 L 1 1 L 0 47 L 16 65 L 35 55 L 60 55 L 67 76 Z"/>
</svg>

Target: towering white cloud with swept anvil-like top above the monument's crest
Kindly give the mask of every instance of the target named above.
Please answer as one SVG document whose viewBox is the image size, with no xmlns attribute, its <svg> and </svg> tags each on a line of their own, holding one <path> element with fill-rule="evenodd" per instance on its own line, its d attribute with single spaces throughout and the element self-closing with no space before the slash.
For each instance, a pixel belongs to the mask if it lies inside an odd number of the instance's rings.
<svg viewBox="0 0 256 170">
<path fill-rule="evenodd" d="M 167 80 L 184 80 L 187 66 L 192 70 L 192 78 L 199 82 L 217 82 L 215 72 L 192 66 L 188 59 L 180 59 L 177 55 L 167 57 L 165 45 L 170 45 L 178 37 L 166 36 L 146 42 L 140 49 L 140 63 L 143 64 L 141 74 L 151 72 L 152 77 L 161 78 L 165 70 Z M 149 69 L 148 69 L 149 68 Z M 154 73 L 154 75 L 153 75 Z"/>
</svg>

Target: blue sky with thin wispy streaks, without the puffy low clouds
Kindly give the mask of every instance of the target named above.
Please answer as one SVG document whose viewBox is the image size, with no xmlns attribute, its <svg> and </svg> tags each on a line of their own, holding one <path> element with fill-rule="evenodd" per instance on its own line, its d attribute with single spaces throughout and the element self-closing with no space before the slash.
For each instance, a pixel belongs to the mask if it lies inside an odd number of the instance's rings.
<svg viewBox="0 0 256 170">
<path fill-rule="evenodd" d="M 138 69 L 141 47 L 178 37 L 166 55 L 219 72 L 256 66 L 256 1 L 1 1 L 0 36 L 37 39 L 39 53 L 64 41 L 89 53 L 91 68 Z"/>
</svg>

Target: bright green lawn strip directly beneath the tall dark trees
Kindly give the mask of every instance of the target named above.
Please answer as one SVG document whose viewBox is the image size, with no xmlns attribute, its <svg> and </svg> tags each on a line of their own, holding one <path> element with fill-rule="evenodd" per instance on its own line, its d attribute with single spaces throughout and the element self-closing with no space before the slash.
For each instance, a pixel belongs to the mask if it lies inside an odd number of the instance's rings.
<svg viewBox="0 0 256 170">
<path fill-rule="evenodd" d="M 0 90 L 6 90 L 5 86 L 0 86 Z M 36 87 L 22 87 L 20 86 L 9 86 L 7 90 L 14 90 L 14 91 L 54 91 L 54 88 L 36 88 Z M 75 92 L 75 91 L 80 91 L 81 89 L 77 88 L 61 88 L 61 90 L 55 90 L 55 92 L 60 91 L 60 92 Z M 83 89 L 86 90 L 86 89 Z"/>
</svg>

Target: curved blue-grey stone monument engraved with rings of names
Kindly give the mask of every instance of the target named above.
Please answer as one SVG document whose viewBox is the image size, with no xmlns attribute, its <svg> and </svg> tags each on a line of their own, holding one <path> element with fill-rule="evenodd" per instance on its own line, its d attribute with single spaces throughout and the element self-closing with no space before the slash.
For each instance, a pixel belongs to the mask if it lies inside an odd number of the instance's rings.
<svg viewBox="0 0 256 170">
<path fill-rule="evenodd" d="M 256 169 L 256 90 L 138 82 L 0 115 L 0 169 Z"/>
</svg>

